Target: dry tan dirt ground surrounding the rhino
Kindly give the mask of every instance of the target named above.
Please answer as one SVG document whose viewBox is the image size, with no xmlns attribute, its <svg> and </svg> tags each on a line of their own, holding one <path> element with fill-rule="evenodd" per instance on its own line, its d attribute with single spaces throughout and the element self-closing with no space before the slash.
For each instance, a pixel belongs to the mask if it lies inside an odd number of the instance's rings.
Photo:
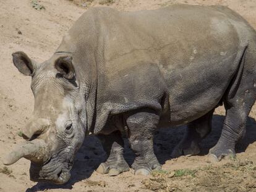
<svg viewBox="0 0 256 192">
<path fill-rule="evenodd" d="M 72 23 L 90 7 L 103 4 L 132 11 L 176 3 L 221 4 L 239 12 L 256 28 L 255 0 L 42 0 L 38 1 L 39 5 L 36 2 L 0 0 L 0 191 L 256 191 L 255 108 L 250 113 L 247 134 L 237 144 L 237 157 L 215 164 L 208 161 L 206 155 L 221 133 L 224 120 L 221 107 L 216 109 L 213 131 L 201 143 L 202 152 L 198 156 L 171 159 L 169 155 L 181 140 L 184 127 L 159 130 L 155 152 L 163 164 L 163 171 L 154 172 L 150 177 L 134 176 L 131 171 L 117 177 L 96 173 L 105 155 L 93 136 L 85 138 L 75 160 L 72 178 L 66 185 L 30 182 L 30 163 L 25 159 L 4 167 L 2 157 L 22 141 L 20 131 L 33 110 L 30 78 L 15 69 L 11 53 L 22 50 L 36 61 L 44 61 L 53 54 Z M 125 154 L 131 164 L 134 156 L 128 147 Z"/>
</svg>

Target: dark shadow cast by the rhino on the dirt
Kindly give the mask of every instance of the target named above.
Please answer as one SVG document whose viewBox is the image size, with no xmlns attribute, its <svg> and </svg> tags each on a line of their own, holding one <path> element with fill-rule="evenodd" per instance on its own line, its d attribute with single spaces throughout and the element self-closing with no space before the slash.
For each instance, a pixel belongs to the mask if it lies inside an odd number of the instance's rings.
<svg viewBox="0 0 256 192">
<path fill-rule="evenodd" d="M 213 130 L 201 143 L 200 155 L 208 154 L 210 148 L 215 146 L 221 135 L 222 125 L 224 121 L 223 115 L 213 115 Z M 250 143 L 256 141 L 256 122 L 255 119 L 249 117 L 247 120 L 247 131 L 244 138 L 239 141 L 236 147 L 237 152 L 244 152 Z M 154 150 L 158 161 L 161 164 L 171 159 L 171 152 L 177 143 L 182 139 L 186 131 L 185 126 L 176 128 L 161 128 L 156 131 L 154 140 Z M 125 139 L 126 148 L 124 150 L 124 157 L 129 165 L 134 161 L 134 154 L 129 148 L 127 139 Z M 106 158 L 105 152 L 100 144 L 100 141 L 93 135 L 85 138 L 82 147 L 80 148 L 72 169 L 72 177 L 66 185 L 51 185 L 48 183 L 37 183 L 32 188 L 28 188 L 27 192 L 30 191 L 43 191 L 54 188 L 66 188 L 72 189 L 74 183 L 80 180 L 85 180 L 92 175 L 93 171 L 96 170 L 98 165 L 103 162 Z"/>
</svg>

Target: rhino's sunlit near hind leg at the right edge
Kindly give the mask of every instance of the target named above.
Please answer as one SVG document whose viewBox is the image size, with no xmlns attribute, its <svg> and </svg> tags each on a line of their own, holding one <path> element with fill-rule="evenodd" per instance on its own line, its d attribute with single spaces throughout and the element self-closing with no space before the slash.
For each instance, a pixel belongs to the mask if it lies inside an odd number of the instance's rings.
<svg viewBox="0 0 256 192">
<path fill-rule="evenodd" d="M 255 61 L 256 43 L 250 44 L 244 52 L 239 70 L 223 97 L 226 117 L 220 139 L 209 152 L 212 161 L 235 156 L 236 143 L 245 135 L 247 118 L 256 99 Z"/>
</svg>

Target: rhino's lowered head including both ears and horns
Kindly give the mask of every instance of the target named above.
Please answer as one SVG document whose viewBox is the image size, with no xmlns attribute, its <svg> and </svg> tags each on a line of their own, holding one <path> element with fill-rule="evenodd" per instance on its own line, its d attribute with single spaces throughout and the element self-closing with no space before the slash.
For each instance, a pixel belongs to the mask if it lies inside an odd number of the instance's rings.
<svg viewBox="0 0 256 192">
<path fill-rule="evenodd" d="M 11 165 L 25 157 L 31 161 L 31 180 L 66 183 L 75 152 L 87 131 L 85 99 L 80 93 L 72 56 L 54 54 L 42 64 L 36 64 L 24 52 L 14 52 L 12 57 L 15 67 L 32 77 L 35 107 L 23 128 L 27 141 L 15 148 L 4 164 Z"/>
</svg>

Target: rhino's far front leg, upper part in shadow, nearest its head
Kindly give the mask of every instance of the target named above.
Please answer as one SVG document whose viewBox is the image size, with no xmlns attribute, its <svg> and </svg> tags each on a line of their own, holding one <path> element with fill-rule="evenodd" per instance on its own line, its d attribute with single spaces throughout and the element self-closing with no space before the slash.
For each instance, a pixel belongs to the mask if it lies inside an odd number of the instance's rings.
<svg viewBox="0 0 256 192">
<path fill-rule="evenodd" d="M 129 171 L 129 165 L 124 159 L 124 141 L 120 131 L 114 131 L 109 135 L 99 134 L 97 137 L 100 139 L 103 149 L 107 154 L 105 162 L 101 163 L 97 169 L 98 173 L 106 174 L 109 176 L 116 176 L 122 172 Z"/>
</svg>

